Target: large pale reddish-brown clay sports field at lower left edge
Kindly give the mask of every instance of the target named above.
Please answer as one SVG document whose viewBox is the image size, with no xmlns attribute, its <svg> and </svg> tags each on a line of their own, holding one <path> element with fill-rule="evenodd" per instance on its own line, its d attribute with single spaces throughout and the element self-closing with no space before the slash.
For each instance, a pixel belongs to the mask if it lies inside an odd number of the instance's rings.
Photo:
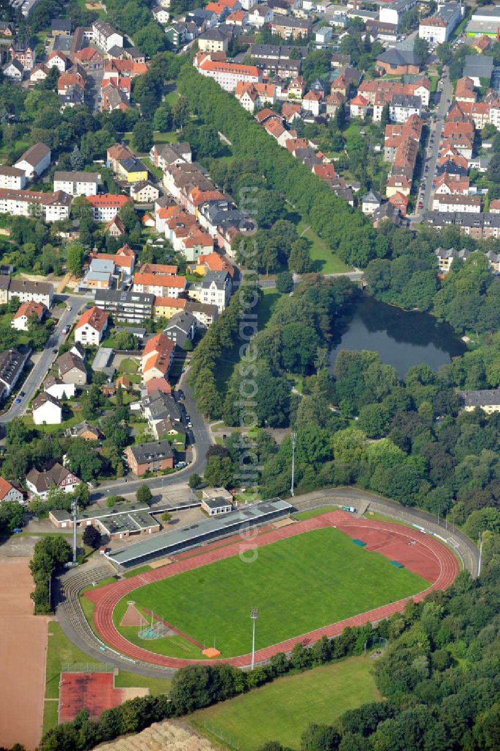
<svg viewBox="0 0 500 751">
<path fill-rule="evenodd" d="M 0 558 L 0 746 L 34 751 L 44 718 L 47 618 L 34 616 L 28 558 Z"/>
</svg>

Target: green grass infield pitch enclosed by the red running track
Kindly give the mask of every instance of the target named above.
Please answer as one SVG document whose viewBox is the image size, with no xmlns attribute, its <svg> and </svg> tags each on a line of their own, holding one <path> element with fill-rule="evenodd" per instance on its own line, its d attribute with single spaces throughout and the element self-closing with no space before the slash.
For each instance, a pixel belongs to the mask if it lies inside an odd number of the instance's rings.
<svg viewBox="0 0 500 751">
<path fill-rule="evenodd" d="M 153 611 L 207 647 L 215 641 L 224 657 L 232 657 L 251 650 L 253 606 L 259 608 L 256 649 L 261 649 L 428 586 L 328 527 L 259 547 L 252 562 L 233 556 L 139 587 L 117 604 L 114 623 L 129 641 L 148 650 L 199 659 L 198 647 L 182 638 L 144 640 L 136 627 L 121 627 L 133 597 L 139 609 Z"/>
</svg>

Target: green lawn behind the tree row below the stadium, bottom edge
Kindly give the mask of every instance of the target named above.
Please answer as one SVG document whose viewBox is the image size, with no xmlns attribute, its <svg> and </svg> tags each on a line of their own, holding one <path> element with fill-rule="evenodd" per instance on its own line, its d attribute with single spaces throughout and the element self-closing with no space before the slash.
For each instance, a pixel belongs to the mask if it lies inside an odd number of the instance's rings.
<svg viewBox="0 0 500 751">
<path fill-rule="evenodd" d="M 309 722 L 329 725 L 345 711 L 380 699 L 370 674 L 372 665 L 370 659 L 350 657 L 289 675 L 199 710 L 189 720 L 216 742 L 220 736 L 231 737 L 232 747 L 240 751 L 256 751 L 267 740 L 298 748 Z"/>
</svg>

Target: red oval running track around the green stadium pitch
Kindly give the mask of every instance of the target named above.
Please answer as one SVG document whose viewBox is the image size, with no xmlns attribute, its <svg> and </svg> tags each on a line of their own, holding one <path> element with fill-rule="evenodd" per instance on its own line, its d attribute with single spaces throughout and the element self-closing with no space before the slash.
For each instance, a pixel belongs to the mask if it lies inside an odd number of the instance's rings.
<svg viewBox="0 0 500 751">
<path fill-rule="evenodd" d="M 110 644 L 114 649 L 143 662 L 150 662 L 153 665 L 164 665 L 168 668 L 184 668 L 187 665 L 196 665 L 206 663 L 206 660 L 180 659 L 177 657 L 168 657 L 159 655 L 142 647 L 137 647 L 130 641 L 127 641 L 115 628 L 113 623 L 113 611 L 117 602 L 123 596 L 128 595 L 132 590 L 143 587 L 144 584 L 150 584 L 153 581 L 180 574 L 191 569 L 198 569 L 200 566 L 206 566 L 208 563 L 229 558 L 245 551 L 254 550 L 256 547 L 268 545 L 293 535 L 308 532 L 310 529 L 320 529 L 326 526 L 336 526 L 351 537 L 360 538 L 367 542 L 368 549 L 376 548 L 379 553 L 397 559 L 402 562 L 411 571 L 420 574 L 432 584 L 423 592 L 417 593 L 413 597 L 392 602 L 389 605 L 383 605 L 380 608 L 361 613 L 359 615 L 346 618 L 332 623 L 330 626 L 323 626 L 315 631 L 295 636 L 279 644 L 273 644 L 271 647 L 265 647 L 257 650 L 255 653 L 256 662 L 263 662 L 269 659 L 271 655 L 277 652 L 289 652 L 294 644 L 302 642 L 305 644 L 311 641 L 317 641 L 323 635 L 328 637 L 336 636 L 346 628 L 346 626 L 362 626 L 367 620 L 375 622 L 382 618 L 387 618 L 394 613 L 401 612 L 405 608 L 405 603 L 410 599 L 416 602 L 423 599 L 432 590 L 445 590 L 459 573 L 458 562 L 446 545 L 442 544 L 432 535 L 425 535 L 415 529 L 407 526 L 401 526 L 390 522 L 371 521 L 368 519 L 356 519 L 347 511 L 329 511 L 326 514 L 313 517 L 311 519 L 289 524 L 288 526 L 273 529 L 271 532 L 256 536 L 255 539 L 241 538 L 232 544 L 217 549 L 208 550 L 198 556 L 183 559 L 168 566 L 162 566 L 159 569 L 138 574 L 129 579 L 122 579 L 114 584 L 107 584 L 98 590 L 92 590 L 85 594 L 86 597 L 95 602 L 94 624 L 102 639 Z M 250 654 L 238 657 L 228 657 L 215 662 L 227 662 L 235 667 L 242 668 L 250 665 Z M 214 661 L 212 661 L 214 662 Z"/>
</svg>

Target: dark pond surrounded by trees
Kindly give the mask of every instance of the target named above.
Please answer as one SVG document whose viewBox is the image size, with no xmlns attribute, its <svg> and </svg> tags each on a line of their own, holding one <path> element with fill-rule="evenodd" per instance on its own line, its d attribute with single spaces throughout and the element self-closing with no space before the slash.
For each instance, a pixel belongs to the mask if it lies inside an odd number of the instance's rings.
<svg viewBox="0 0 500 751">
<path fill-rule="evenodd" d="M 404 378 L 408 368 L 426 363 L 438 370 L 452 357 L 463 354 L 466 347 L 448 324 L 432 315 L 406 312 L 381 303 L 374 297 L 362 297 L 352 317 L 344 321 L 343 333 L 330 352 L 332 369 L 341 349 L 378 352 L 383 362 L 393 365 Z"/>
</svg>

